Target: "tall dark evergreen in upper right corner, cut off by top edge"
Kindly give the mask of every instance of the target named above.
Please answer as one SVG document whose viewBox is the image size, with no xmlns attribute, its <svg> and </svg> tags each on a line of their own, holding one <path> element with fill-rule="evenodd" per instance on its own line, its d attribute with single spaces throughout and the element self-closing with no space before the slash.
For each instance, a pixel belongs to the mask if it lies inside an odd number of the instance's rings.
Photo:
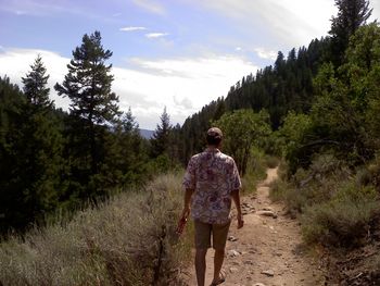
<svg viewBox="0 0 380 286">
<path fill-rule="evenodd" d="M 335 0 L 338 15 L 331 18 L 331 57 L 335 67 L 343 63 L 349 40 L 372 13 L 368 0 Z"/>
</svg>

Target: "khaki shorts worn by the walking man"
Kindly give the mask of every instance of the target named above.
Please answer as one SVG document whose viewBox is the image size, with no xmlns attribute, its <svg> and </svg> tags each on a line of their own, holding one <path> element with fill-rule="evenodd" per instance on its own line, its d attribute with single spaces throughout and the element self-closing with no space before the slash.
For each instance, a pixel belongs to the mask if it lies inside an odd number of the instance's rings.
<svg viewBox="0 0 380 286">
<path fill-rule="evenodd" d="M 213 235 L 213 248 L 225 249 L 228 229 L 231 222 L 226 224 L 208 224 L 198 220 L 194 221 L 195 248 L 207 249 L 211 247 L 211 236 Z"/>
</svg>

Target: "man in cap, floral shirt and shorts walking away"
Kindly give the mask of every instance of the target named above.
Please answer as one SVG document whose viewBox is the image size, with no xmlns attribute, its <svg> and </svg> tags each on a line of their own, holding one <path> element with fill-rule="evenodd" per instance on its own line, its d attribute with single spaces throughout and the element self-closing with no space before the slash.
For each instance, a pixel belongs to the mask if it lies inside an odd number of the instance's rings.
<svg viewBox="0 0 380 286">
<path fill-rule="evenodd" d="M 195 228 L 195 272 L 199 286 L 204 286 L 205 257 L 211 246 L 215 249 L 214 279 L 211 286 L 225 282 L 225 274 L 220 270 L 231 223 L 231 200 L 238 211 L 238 228 L 244 224 L 240 207 L 239 172 L 233 159 L 219 151 L 221 139 L 219 128 L 207 130 L 207 148 L 190 159 L 183 178 L 186 194 L 182 220 L 189 215 L 191 209 Z"/>
</svg>

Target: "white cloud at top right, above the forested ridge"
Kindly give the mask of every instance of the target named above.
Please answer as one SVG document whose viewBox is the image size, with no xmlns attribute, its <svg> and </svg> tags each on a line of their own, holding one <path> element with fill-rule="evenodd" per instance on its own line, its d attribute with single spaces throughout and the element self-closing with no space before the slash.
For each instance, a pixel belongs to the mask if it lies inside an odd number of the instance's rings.
<svg viewBox="0 0 380 286">
<path fill-rule="evenodd" d="M 333 1 L 318 0 L 188 0 L 232 18 L 252 35 L 252 29 L 262 40 L 271 39 L 282 47 L 307 45 L 313 38 L 327 35 L 331 15 L 335 14 Z M 278 42 L 274 46 L 278 47 Z"/>
</svg>

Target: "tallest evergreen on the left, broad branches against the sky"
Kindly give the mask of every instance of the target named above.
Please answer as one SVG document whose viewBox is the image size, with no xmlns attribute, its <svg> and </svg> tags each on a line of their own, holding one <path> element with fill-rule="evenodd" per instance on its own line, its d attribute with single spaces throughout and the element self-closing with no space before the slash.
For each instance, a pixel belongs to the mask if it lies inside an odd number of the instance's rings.
<svg viewBox="0 0 380 286">
<path fill-rule="evenodd" d="M 99 171 L 102 157 L 101 133 L 103 125 L 113 122 L 118 112 L 118 97 L 111 91 L 113 75 L 112 64 L 105 61 L 112 57 L 110 50 L 104 50 L 100 32 L 83 37 L 80 47 L 73 51 L 73 60 L 67 65 L 68 74 L 62 85 L 56 84 L 60 96 L 72 100 L 71 114 L 81 122 L 83 134 L 86 134 L 83 150 L 89 150 L 91 173 Z M 85 159 L 85 161 L 88 161 Z"/>
</svg>

